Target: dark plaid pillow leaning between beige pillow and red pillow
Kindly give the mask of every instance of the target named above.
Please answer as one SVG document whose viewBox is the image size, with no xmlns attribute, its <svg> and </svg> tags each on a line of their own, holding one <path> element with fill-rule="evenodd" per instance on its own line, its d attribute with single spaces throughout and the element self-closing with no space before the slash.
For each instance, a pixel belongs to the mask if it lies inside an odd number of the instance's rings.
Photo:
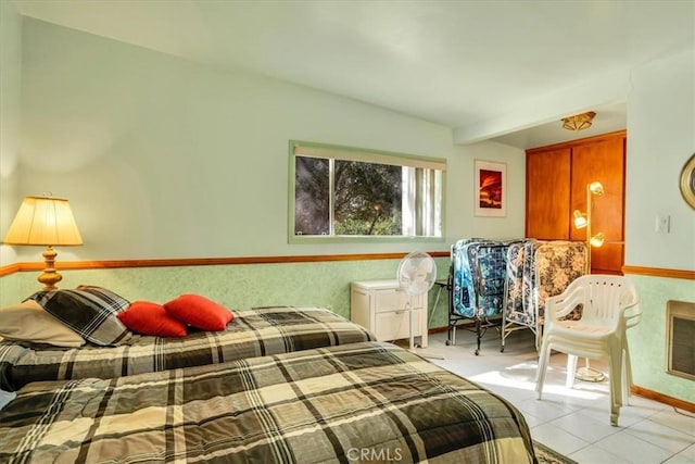
<svg viewBox="0 0 695 464">
<path fill-rule="evenodd" d="M 117 347 L 132 334 L 116 317 L 130 302 L 103 287 L 79 286 L 74 290 L 37 291 L 35 300 L 48 313 L 78 333 L 85 340 L 103 347 Z"/>
</svg>

